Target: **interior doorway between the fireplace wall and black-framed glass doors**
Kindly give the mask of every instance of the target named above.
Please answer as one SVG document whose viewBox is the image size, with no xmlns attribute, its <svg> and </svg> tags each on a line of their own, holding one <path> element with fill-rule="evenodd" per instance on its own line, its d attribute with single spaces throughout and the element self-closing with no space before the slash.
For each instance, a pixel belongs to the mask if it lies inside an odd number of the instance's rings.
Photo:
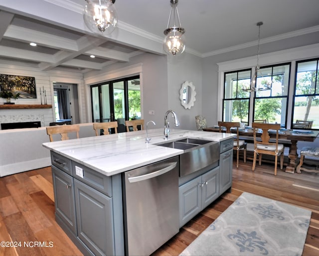
<svg viewBox="0 0 319 256">
<path fill-rule="evenodd" d="M 80 123 L 78 85 L 53 84 L 55 122 Z"/>
</svg>

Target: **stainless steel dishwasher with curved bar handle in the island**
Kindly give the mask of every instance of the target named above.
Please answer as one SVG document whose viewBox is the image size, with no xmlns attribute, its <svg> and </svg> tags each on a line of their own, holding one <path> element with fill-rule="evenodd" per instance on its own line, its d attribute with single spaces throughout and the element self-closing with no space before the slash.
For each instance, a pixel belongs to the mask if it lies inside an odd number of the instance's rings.
<svg viewBox="0 0 319 256">
<path fill-rule="evenodd" d="M 179 157 L 123 174 L 126 255 L 150 255 L 179 231 Z"/>
</svg>

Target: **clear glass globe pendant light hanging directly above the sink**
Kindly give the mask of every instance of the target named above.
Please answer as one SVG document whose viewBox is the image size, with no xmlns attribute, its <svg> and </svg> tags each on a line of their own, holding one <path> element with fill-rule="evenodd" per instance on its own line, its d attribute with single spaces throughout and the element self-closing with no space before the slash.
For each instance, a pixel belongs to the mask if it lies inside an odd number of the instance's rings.
<svg viewBox="0 0 319 256">
<path fill-rule="evenodd" d="M 168 54 L 171 53 L 173 56 L 180 55 L 185 50 L 185 42 L 183 38 L 185 29 L 183 29 L 180 24 L 177 4 L 178 4 L 178 0 L 170 0 L 171 9 L 169 12 L 167 28 L 164 30 L 164 35 L 165 35 L 164 43 L 163 43 L 164 50 Z M 172 24 L 170 23 L 171 16 L 173 16 Z M 178 23 L 176 23 L 176 21 L 178 21 Z M 176 24 L 178 26 L 176 26 Z"/>
</svg>

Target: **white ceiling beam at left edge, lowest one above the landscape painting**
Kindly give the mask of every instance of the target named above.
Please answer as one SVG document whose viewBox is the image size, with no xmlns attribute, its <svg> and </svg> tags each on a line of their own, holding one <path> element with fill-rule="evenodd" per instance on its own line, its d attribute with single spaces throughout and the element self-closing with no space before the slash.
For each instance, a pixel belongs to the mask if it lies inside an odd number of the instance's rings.
<svg viewBox="0 0 319 256">
<path fill-rule="evenodd" d="M 53 58 L 51 54 L 33 52 L 28 50 L 22 50 L 7 46 L 0 46 L 0 56 L 24 59 L 35 62 L 52 62 Z"/>
</svg>

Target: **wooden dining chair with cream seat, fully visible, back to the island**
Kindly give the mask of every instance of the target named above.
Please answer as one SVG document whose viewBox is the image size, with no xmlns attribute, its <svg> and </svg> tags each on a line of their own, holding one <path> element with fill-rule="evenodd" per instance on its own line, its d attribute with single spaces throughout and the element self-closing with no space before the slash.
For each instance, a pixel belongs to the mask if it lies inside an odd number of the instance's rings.
<svg viewBox="0 0 319 256">
<path fill-rule="evenodd" d="M 269 154 L 275 156 L 275 172 L 277 175 L 277 160 L 278 155 L 280 155 L 280 169 L 283 169 L 284 165 L 284 144 L 278 143 L 278 131 L 280 130 L 280 124 L 252 124 L 254 132 L 254 161 L 253 168 L 255 170 L 257 154 L 259 155 L 259 165 L 261 165 L 262 155 Z M 257 131 L 262 130 L 261 140 L 257 140 Z M 270 142 L 269 132 L 276 132 L 276 142 Z"/>
</svg>

